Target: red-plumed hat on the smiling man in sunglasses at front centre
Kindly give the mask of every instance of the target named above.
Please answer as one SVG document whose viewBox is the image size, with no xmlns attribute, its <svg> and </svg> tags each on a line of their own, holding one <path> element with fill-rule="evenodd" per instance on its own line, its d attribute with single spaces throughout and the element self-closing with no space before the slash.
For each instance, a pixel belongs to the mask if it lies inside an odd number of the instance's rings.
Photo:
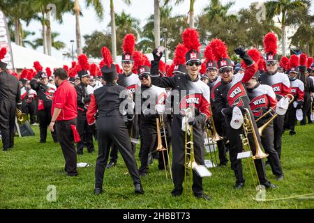
<svg viewBox="0 0 314 223">
<path fill-rule="evenodd" d="M 191 61 L 202 63 L 198 32 L 195 29 L 188 28 L 182 33 L 182 40 L 184 46 L 188 49 L 188 52 L 186 53 L 186 64 Z"/>
</svg>

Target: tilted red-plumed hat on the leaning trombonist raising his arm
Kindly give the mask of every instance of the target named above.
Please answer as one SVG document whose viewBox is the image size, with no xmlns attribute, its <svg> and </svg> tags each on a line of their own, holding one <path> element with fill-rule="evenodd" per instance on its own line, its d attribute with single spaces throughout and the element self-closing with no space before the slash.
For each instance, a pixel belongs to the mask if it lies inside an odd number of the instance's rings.
<svg viewBox="0 0 314 223">
<path fill-rule="evenodd" d="M 216 38 L 214 40 L 211 40 L 211 43 L 209 43 L 209 47 L 211 47 L 211 52 L 214 56 L 214 60 L 217 61 L 219 72 L 221 72 L 225 68 L 233 69 L 232 61 L 228 56 L 227 46 L 225 45 L 225 42 Z"/>
</svg>

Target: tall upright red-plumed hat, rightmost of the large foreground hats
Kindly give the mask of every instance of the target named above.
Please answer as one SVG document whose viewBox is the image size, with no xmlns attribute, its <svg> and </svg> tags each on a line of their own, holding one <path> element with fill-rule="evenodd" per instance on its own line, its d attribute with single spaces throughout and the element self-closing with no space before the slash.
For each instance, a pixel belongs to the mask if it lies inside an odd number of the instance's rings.
<svg viewBox="0 0 314 223">
<path fill-rule="evenodd" d="M 278 61 L 278 39 L 275 33 L 267 33 L 264 37 L 264 51 L 266 53 L 266 61 Z"/>
</svg>

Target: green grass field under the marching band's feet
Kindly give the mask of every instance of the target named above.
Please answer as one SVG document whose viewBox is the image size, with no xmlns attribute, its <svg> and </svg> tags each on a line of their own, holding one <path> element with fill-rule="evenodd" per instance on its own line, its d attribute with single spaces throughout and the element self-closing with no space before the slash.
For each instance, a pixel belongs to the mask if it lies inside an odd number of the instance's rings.
<svg viewBox="0 0 314 223">
<path fill-rule="evenodd" d="M 64 160 L 59 144 L 53 143 L 51 134 L 46 144 L 39 144 L 38 126 L 33 130 L 36 136 L 16 138 L 13 150 L 0 151 L 0 208 L 314 208 L 314 194 L 306 199 L 255 201 L 257 191 L 246 162 L 246 187 L 239 191 L 232 188 L 235 179 L 230 162 L 227 167 L 210 169 L 213 176 L 204 178 L 203 185 L 212 200 L 204 201 L 172 197 L 172 180 L 165 179 L 165 172 L 158 170 L 158 161 L 154 160 L 149 175 L 142 178 L 145 194 L 138 196 L 130 176 L 124 174 L 126 167 L 120 155 L 117 166 L 105 172 L 104 192 L 96 197 L 93 191 L 97 153 L 89 154 L 84 148 L 84 155 L 77 157 L 77 162 L 89 162 L 92 166 L 78 169 L 79 176 L 70 178 L 61 172 Z M 267 168 L 269 180 L 279 190 L 267 190 L 266 199 L 314 193 L 314 124 L 297 126 L 296 131 L 293 137 L 288 132 L 283 135 L 281 162 L 285 180 L 276 181 Z M 49 185 L 56 187 L 56 201 L 46 199 Z"/>
</svg>

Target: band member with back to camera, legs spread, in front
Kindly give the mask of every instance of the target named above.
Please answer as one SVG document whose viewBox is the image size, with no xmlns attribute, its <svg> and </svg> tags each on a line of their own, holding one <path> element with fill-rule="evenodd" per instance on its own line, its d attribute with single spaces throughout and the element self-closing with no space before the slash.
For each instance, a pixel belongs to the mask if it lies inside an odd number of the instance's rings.
<svg viewBox="0 0 314 223">
<path fill-rule="evenodd" d="M 96 160 L 94 193 L 98 195 L 103 191 L 105 167 L 110 146 L 113 142 L 117 145 L 126 163 L 129 174 L 133 178 L 135 193 L 144 194 L 135 156 L 128 137 L 128 129 L 119 111 L 120 104 L 124 101 L 124 98 L 120 97 L 120 93 L 126 91 L 126 89 L 117 84 L 117 70 L 112 63 L 109 49 L 103 47 L 101 51 L 103 55 L 105 54 L 103 60 L 104 66 L 101 72 L 103 72 L 103 79 L 106 84 L 94 91 L 94 94 L 91 95 L 91 102 L 87 110 L 87 121 L 89 125 L 96 123 L 98 129 L 98 158 Z M 96 120 L 95 114 L 97 110 L 98 119 Z"/>
</svg>

